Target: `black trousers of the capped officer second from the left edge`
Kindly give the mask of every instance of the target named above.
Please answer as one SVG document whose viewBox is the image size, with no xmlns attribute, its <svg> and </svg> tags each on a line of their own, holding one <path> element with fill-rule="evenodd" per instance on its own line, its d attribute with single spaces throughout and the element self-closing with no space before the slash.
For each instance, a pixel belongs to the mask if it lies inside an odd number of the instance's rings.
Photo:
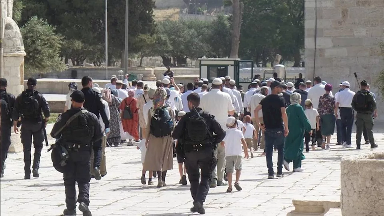
<svg viewBox="0 0 384 216">
<path fill-rule="evenodd" d="M 41 149 L 43 148 L 44 132 L 41 128 L 43 122 L 31 122 L 27 120 L 22 121 L 22 128 L 20 137 L 23 143 L 24 151 L 24 172 L 25 174 L 31 173 L 31 146 L 33 137 L 33 148 L 35 153 L 33 154 L 33 169 L 40 167 Z"/>
</svg>

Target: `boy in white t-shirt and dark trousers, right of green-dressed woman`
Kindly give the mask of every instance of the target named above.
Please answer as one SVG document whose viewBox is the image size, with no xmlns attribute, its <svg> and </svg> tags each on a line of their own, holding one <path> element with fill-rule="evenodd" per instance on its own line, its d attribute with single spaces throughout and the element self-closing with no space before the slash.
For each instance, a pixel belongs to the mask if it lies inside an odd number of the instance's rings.
<svg viewBox="0 0 384 216">
<path fill-rule="evenodd" d="M 315 142 L 316 142 L 316 130 L 319 130 L 319 113 L 313 108 L 312 101 L 310 99 L 305 100 L 305 116 L 307 116 L 308 121 L 311 124 L 311 132 L 305 133 L 305 150 L 306 152 L 310 151 L 309 142 L 312 138 L 312 151 L 316 150 Z M 327 145 L 327 149 L 329 149 L 329 145 Z"/>
</svg>

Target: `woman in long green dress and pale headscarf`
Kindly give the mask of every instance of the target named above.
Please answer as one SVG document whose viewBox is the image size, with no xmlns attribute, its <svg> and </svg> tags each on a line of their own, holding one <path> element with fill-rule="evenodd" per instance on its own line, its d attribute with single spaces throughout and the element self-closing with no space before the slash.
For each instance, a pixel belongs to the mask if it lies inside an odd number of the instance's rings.
<svg viewBox="0 0 384 216">
<path fill-rule="evenodd" d="M 301 172 L 301 160 L 305 159 L 304 132 L 311 131 L 311 124 L 304 114 L 301 103 L 301 95 L 292 93 L 290 96 L 291 105 L 286 108 L 288 115 L 289 133 L 285 138 L 284 145 L 284 168 L 289 171 L 289 163 L 293 161 L 293 171 Z"/>
</svg>

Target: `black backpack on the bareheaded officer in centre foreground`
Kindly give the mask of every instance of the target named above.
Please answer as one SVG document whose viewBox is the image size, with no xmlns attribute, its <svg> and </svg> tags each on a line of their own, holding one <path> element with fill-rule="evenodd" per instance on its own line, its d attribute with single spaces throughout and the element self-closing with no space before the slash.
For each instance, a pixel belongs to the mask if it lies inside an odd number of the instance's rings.
<svg viewBox="0 0 384 216">
<path fill-rule="evenodd" d="M 189 140 L 193 143 L 202 143 L 203 141 L 207 140 L 207 138 L 211 140 L 212 134 L 208 130 L 208 125 L 205 121 L 205 118 L 199 114 L 196 108 L 194 109 L 197 114 L 190 116 L 187 121 L 187 133 Z"/>
</svg>

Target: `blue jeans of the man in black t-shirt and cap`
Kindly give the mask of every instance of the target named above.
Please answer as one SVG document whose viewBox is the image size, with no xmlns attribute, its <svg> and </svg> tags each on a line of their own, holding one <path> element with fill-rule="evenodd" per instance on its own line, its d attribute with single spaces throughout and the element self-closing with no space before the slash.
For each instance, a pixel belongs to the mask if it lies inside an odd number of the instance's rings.
<svg viewBox="0 0 384 216">
<path fill-rule="evenodd" d="M 277 173 L 283 173 L 283 160 L 284 160 L 284 143 L 285 136 L 283 129 L 266 129 L 265 130 L 265 153 L 266 153 L 266 166 L 268 168 L 268 175 L 273 176 L 273 147 L 277 148 Z"/>
</svg>

